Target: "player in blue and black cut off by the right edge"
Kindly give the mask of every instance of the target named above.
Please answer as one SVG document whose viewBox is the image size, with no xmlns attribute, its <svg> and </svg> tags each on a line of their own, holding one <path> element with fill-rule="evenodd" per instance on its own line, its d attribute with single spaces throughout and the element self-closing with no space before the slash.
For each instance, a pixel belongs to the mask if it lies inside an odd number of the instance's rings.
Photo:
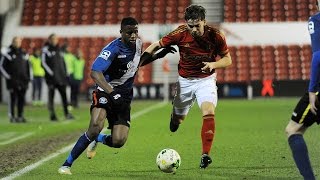
<svg viewBox="0 0 320 180">
<path fill-rule="evenodd" d="M 319 10 L 319 1 L 316 0 Z M 319 83 L 320 83 L 320 13 L 311 16 L 308 23 L 312 46 L 312 63 L 309 89 L 296 105 L 291 120 L 286 127 L 288 142 L 293 159 L 304 179 L 315 179 L 310 163 L 308 148 L 303 134 L 313 123 L 320 123 Z"/>
</svg>

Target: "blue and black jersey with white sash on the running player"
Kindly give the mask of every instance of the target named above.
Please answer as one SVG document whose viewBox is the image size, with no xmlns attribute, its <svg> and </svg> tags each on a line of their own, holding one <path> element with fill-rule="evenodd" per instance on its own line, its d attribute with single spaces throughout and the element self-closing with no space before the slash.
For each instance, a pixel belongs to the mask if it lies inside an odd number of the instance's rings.
<svg viewBox="0 0 320 180">
<path fill-rule="evenodd" d="M 91 70 L 102 72 L 106 81 L 115 89 L 131 90 L 138 70 L 142 42 L 136 40 L 136 47 L 128 47 L 115 39 L 105 46 L 92 64 Z M 103 91 L 99 86 L 99 90 Z"/>
</svg>

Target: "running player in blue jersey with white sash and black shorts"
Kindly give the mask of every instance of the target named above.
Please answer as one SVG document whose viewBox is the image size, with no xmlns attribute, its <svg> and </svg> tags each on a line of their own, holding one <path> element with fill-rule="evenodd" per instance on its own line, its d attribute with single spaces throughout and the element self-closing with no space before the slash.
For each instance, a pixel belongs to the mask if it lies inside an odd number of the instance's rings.
<svg viewBox="0 0 320 180">
<path fill-rule="evenodd" d="M 120 148 L 127 141 L 133 81 L 144 60 L 140 59 L 142 42 L 138 39 L 138 22 L 131 17 L 124 18 L 121 21 L 120 34 L 120 38 L 102 49 L 92 65 L 91 77 L 96 83 L 96 89 L 92 93 L 90 125 L 58 169 L 60 174 L 71 175 L 70 168 L 73 162 L 90 143 L 88 158 L 95 155 L 97 142 Z M 173 48 L 164 48 L 152 58 L 162 58 L 169 52 L 173 53 Z M 109 135 L 100 134 L 105 118 L 108 119 L 108 128 L 111 129 Z"/>
</svg>

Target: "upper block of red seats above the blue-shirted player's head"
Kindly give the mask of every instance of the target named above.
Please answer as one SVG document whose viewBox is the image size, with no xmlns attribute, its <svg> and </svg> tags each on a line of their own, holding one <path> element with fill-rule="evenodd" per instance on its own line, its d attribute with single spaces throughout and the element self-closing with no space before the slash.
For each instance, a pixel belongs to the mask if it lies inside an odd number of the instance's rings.
<svg viewBox="0 0 320 180">
<path fill-rule="evenodd" d="M 183 22 L 190 0 L 25 0 L 21 24 L 88 25 L 117 24 L 123 17 L 135 17 L 140 23 Z"/>
</svg>

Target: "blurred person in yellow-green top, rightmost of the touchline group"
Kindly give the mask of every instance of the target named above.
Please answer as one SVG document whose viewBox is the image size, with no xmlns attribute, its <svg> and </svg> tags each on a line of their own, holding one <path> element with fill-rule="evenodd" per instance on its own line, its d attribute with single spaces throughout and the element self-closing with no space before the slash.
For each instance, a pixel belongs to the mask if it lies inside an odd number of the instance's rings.
<svg viewBox="0 0 320 180">
<path fill-rule="evenodd" d="M 80 85 L 84 75 L 84 64 L 85 64 L 85 60 L 83 58 L 82 51 L 78 49 L 75 59 L 73 60 L 73 63 L 72 63 L 73 73 L 70 74 L 71 105 L 75 108 L 79 107 L 78 96 L 80 92 Z"/>
</svg>

